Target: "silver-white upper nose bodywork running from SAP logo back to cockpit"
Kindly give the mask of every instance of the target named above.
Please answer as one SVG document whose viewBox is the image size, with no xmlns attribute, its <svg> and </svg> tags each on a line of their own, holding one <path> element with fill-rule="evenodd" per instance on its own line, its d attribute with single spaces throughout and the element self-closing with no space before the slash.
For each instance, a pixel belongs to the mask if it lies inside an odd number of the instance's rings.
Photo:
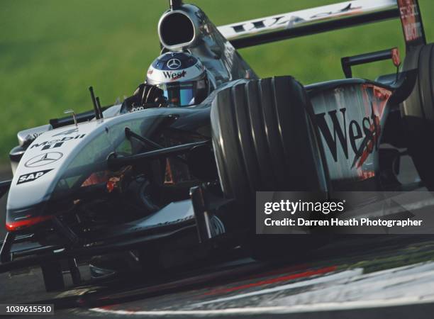
<svg viewBox="0 0 434 319">
<path fill-rule="evenodd" d="M 118 110 L 118 106 L 113 108 Z M 108 169 L 107 157 L 111 152 L 119 152 L 127 141 L 127 126 L 146 136 L 159 118 L 173 113 L 179 111 L 174 111 L 174 108 L 149 108 L 40 134 L 18 164 L 9 190 L 7 210 L 11 213 L 22 211 L 45 203 L 53 196 L 62 197 L 62 193 L 77 187 L 71 186 L 69 179 Z M 123 152 L 133 154 L 134 150 Z"/>
</svg>

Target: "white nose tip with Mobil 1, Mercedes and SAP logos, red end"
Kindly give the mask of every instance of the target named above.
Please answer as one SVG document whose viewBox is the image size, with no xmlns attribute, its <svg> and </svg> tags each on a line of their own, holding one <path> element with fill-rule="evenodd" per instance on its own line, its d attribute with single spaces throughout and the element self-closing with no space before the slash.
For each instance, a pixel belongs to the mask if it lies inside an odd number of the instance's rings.
<svg viewBox="0 0 434 319">
<path fill-rule="evenodd" d="M 18 163 L 6 205 L 6 228 L 9 231 L 49 220 L 47 203 L 67 161 L 89 133 L 87 125 L 50 130 L 30 144 Z"/>
</svg>

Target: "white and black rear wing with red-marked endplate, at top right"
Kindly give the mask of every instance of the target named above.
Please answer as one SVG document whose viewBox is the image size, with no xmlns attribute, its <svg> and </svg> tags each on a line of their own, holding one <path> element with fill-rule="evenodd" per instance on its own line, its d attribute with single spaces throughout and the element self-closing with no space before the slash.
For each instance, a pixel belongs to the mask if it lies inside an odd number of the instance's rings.
<svg viewBox="0 0 434 319">
<path fill-rule="evenodd" d="M 355 0 L 218 27 L 235 48 L 401 18 L 407 50 L 423 45 L 418 0 Z"/>
</svg>

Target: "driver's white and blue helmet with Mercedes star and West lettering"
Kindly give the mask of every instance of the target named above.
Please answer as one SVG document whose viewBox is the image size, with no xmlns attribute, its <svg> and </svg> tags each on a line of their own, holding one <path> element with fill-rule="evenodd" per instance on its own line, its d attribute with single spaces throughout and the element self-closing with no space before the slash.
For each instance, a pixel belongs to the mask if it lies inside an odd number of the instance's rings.
<svg viewBox="0 0 434 319">
<path fill-rule="evenodd" d="M 148 69 L 146 83 L 163 90 L 167 103 L 191 106 L 204 101 L 210 85 L 204 65 L 186 52 L 167 52 Z"/>
</svg>

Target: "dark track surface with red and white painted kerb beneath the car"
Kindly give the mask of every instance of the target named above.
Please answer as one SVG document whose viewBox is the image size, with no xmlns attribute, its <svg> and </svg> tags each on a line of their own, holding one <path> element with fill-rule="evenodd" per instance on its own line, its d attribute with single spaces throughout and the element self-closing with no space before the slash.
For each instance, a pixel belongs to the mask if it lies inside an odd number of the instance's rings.
<svg viewBox="0 0 434 319">
<path fill-rule="evenodd" d="M 4 209 L 4 208 L 3 208 Z M 303 235 L 300 235 L 301 240 Z M 298 245 L 294 242 L 294 245 Z M 291 247 L 282 247 L 282 254 Z M 364 235 L 280 263 L 233 250 L 160 277 L 134 272 L 46 293 L 39 269 L 0 274 L 1 303 L 54 303 L 57 318 L 433 318 L 434 235 Z"/>
</svg>

